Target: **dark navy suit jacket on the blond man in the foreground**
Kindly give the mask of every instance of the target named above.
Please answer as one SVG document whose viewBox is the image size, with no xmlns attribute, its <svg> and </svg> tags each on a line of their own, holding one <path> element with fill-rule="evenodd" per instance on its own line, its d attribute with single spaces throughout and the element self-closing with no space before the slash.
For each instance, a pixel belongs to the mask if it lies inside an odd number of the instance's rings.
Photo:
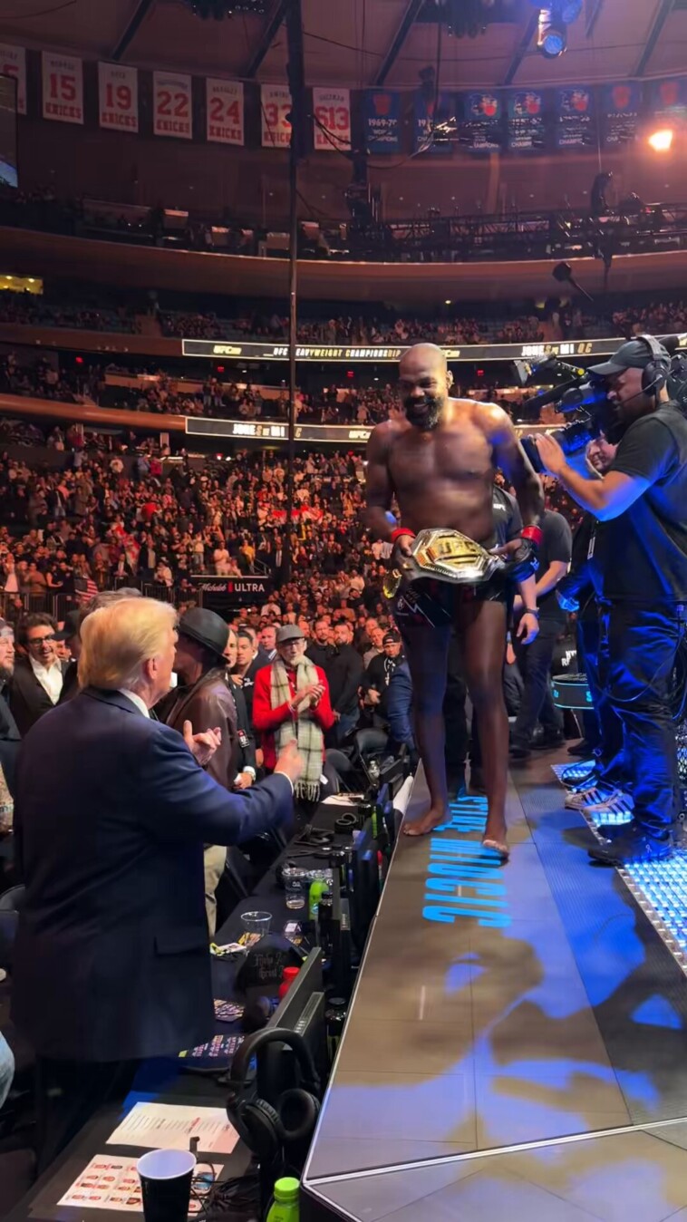
<svg viewBox="0 0 687 1222">
<path fill-rule="evenodd" d="M 240 843 L 291 810 L 285 776 L 227 793 L 119 692 L 88 688 L 43 717 L 15 804 L 12 1012 L 35 1051 L 120 1061 L 210 1039 L 203 843 Z"/>
</svg>

